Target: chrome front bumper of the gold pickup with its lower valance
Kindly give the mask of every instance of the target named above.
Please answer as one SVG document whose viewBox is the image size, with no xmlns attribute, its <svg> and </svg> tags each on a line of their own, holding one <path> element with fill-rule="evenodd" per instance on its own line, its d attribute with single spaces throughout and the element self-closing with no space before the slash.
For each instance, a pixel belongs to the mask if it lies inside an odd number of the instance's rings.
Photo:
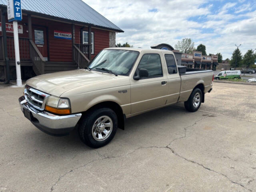
<svg viewBox="0 0 256 192">
<path fill-rule="evenodd" d="M 76 124 L 82 116 L 81 113 L 58 116 L 46 111 L 38 110 L 32 107 L 25 100 L 24 96 L 19 98 L 19 103 L 23 113 L 24 108 L 31 112 L 31 122 L 32 124 L 34 124 L 34 126 L 42 130 L 43 132 L 54 136 L 62 136 L 69 134 L 74 129 L 74 127 L 76 126 Z"/>
</svg>

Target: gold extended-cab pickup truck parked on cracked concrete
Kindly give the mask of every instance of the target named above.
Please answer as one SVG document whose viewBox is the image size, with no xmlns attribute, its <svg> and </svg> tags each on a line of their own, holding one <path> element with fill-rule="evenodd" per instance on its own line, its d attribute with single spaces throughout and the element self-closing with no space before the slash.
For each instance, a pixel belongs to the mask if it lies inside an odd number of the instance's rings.
<svg viewBox="0 0 256 192">
<path fill-rule="evenodd" d="M 177 66 L 168 50 L 106 48 L 85 69 L 36 76 L 19 98 L 24 116 L 51 135 L 76 126 L 81 140 L 108 144 L 124 120 L 184 102 L 195 112 L 212 90 L 212 70 Z"/>
</svg>

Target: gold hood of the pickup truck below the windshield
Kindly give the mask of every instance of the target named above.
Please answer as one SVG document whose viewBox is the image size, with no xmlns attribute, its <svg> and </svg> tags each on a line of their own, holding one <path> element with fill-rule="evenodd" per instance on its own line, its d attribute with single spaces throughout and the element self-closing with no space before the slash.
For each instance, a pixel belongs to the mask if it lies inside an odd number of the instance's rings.
<svg viewBox="0 0 256 192">
<path fill-rule="evenodd" d="M 45 93 L 60 96 L 68 90 L 85 84 L 106 82 L 115 78 L 118 77 L 112 74 L 80 69 L 36 76 L 27 80 L 26 84 Z"/>
</svg>

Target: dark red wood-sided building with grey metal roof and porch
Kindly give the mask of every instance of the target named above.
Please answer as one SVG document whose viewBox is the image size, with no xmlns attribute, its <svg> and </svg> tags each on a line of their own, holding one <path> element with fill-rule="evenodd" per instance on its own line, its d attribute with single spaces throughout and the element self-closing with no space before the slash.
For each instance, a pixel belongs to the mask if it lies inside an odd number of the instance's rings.
<svg viewBox="0 0 256 192">
<path fill-rule="evenodd" d="M 15 79 L 12 22 L 0 0 L 0 80 Z M 84 67 L 123 32 L 81 0 L 22 0 L 18 22 L 22 79 Z M 88 51 L 90 50 L 90 51 Z"/>
</svg>

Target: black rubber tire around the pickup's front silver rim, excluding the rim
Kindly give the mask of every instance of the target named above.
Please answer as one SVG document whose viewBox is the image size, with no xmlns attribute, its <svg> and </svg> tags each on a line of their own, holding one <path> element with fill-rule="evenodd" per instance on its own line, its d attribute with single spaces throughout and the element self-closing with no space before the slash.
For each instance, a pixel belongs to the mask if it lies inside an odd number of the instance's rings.
<svg viewBox="0 0 256 192">
<path fill-rule="evenodd" d="M 98 118 L 101 116 L 108 116 L 112 120 L 112 132 L 110 135 L 102 141 L 94 139 L 92 135 L 92 126 Z M 99 148 L 108 144 L 115 136 L 118 128 L 118 118 L 116 113 L 110 108 L 99 108 L 90 111 L 87 115 L 83 116 L 78 127 L 78 134 L 82 142 L 92 148 Z"/>
</svg>

